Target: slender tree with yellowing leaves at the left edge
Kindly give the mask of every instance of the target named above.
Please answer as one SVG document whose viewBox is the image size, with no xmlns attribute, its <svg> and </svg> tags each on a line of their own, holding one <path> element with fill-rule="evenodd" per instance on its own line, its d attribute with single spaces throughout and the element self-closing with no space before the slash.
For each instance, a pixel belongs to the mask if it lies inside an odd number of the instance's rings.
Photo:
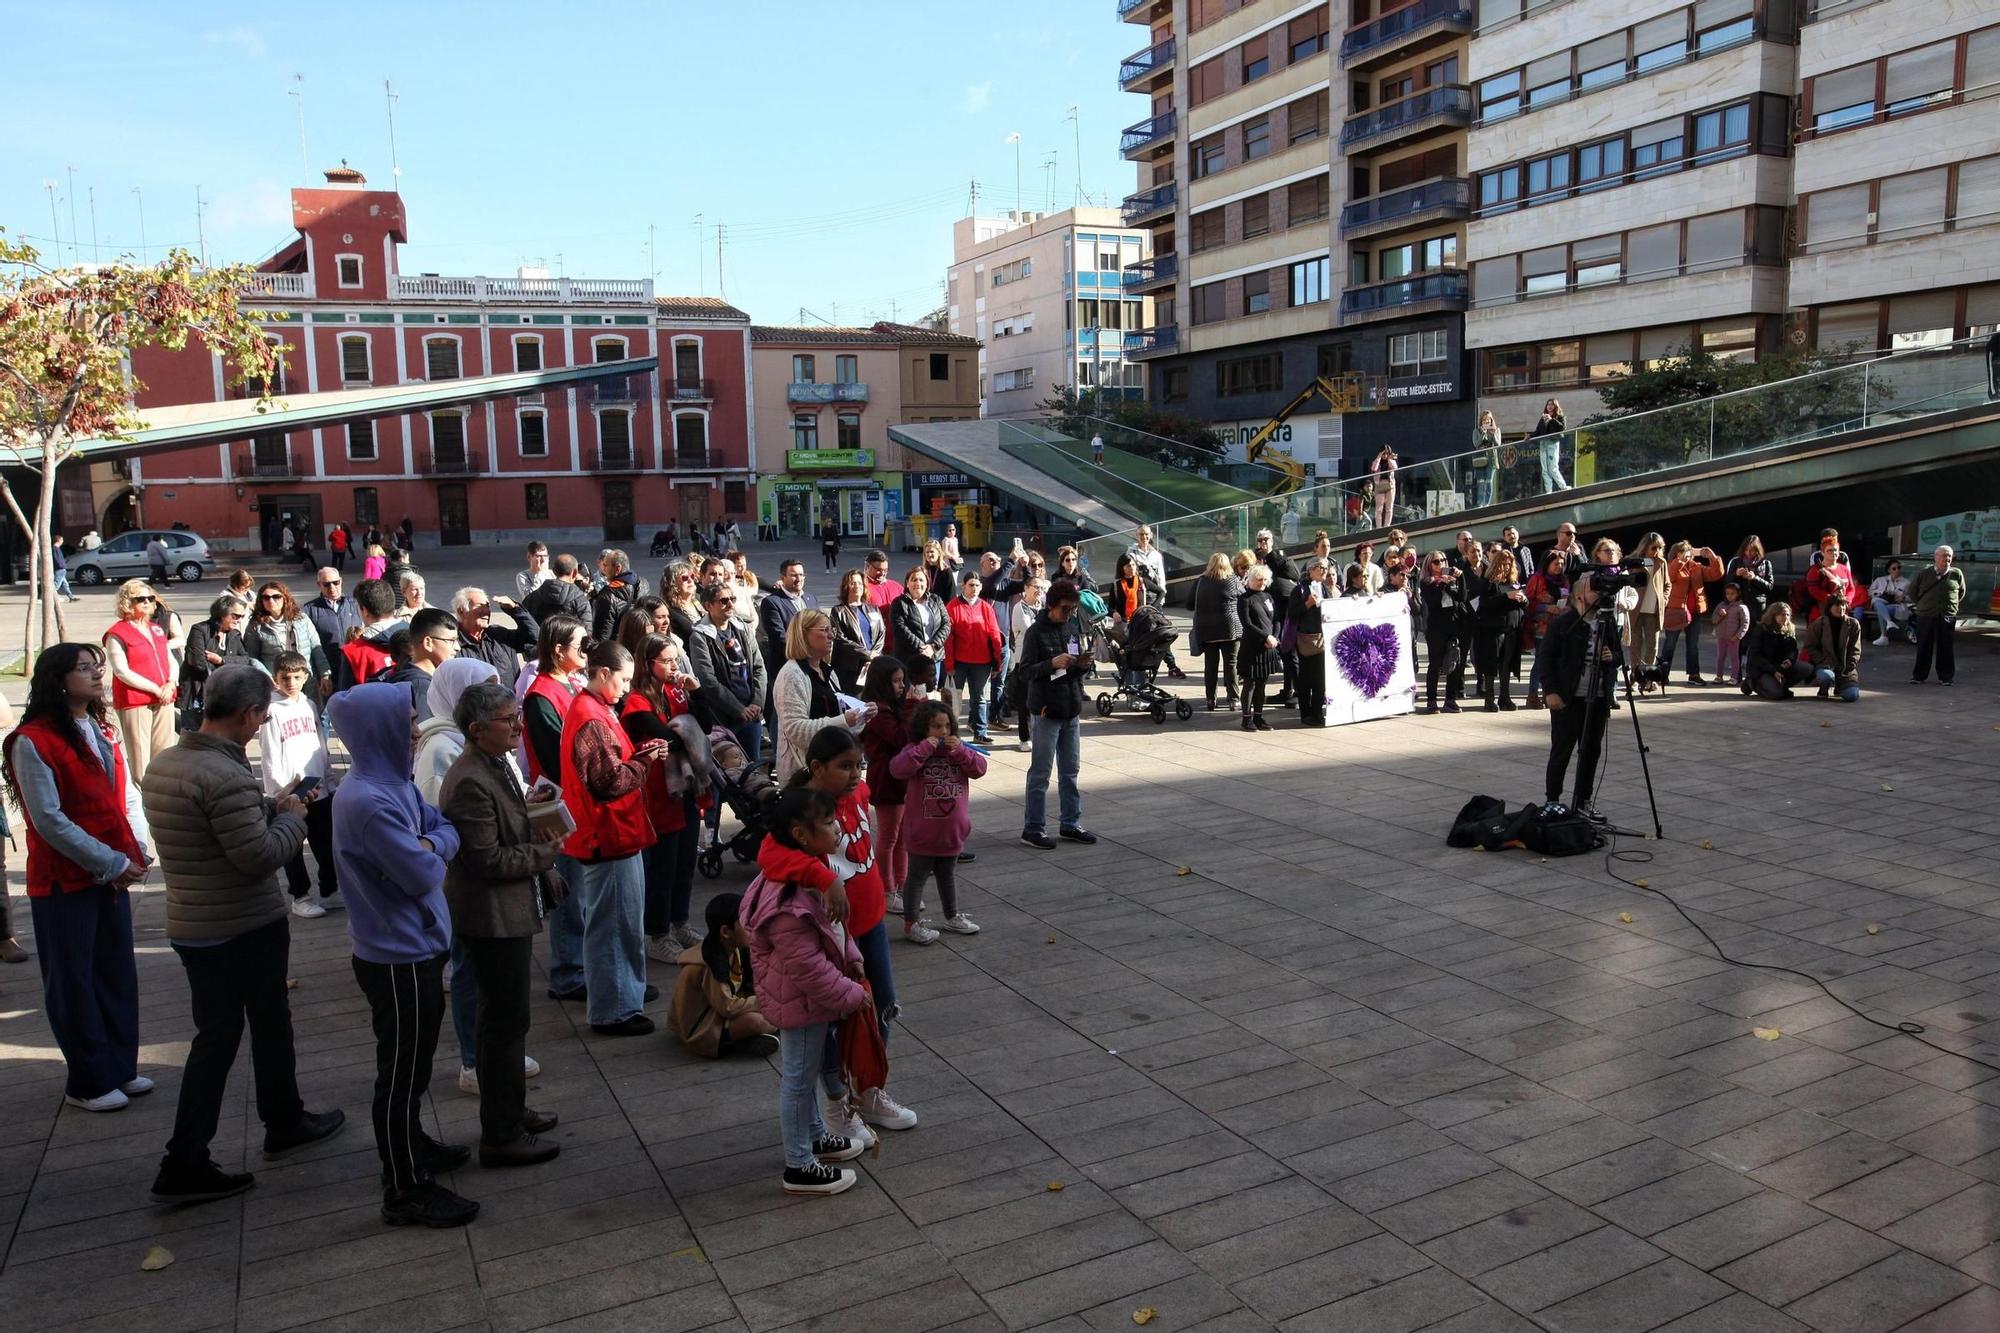
<svg viewBox="0 0 2000 1333">
<path fill-rule="evenodd" d="M 202 268 L 186 250 L 140 266 L 48 268 L 34 246 L 0 230 L 0 456 L 40 478 L 34 514 L 0 482 L 8 512 L 28 536 L 26 660 L 62 640 L 50 544 L 56 470 L 82 440 L 118 440 L 136 424 L 144 388 L 130 374 L 132 350 L 180 350 L 194 338 L 222 358 L 230 382 L 268 386 L 286 350 L 262 324 L 278 316 L 240 302 L 248 266 Z"/>
</svg>

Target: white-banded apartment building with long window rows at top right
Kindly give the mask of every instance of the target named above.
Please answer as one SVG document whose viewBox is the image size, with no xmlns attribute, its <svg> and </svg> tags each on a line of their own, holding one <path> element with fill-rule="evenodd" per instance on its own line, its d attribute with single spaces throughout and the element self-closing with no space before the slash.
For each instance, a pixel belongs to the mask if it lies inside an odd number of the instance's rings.
<svg viewBox="0 0 2000 1333">
<path fill-rule="evenodd" d="M 1686 346 L 2000 322 L 2000 0 L 1484 0 L 1472 84 L 1466 342 L 1508 434 Z"/>
</svg>

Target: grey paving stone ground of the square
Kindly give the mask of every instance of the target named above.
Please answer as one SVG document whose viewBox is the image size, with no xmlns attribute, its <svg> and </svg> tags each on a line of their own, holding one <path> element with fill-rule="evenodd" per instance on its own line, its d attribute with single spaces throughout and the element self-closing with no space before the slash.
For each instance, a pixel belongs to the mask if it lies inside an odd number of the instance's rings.
<svg viewBox="0 0 2000 1333">
<path fill-rule="evenodd" d="M 1012 841 L 1024 755 L 976 785 L 960 893 L 984 933 L 896 945 L 892 1087 L 922 1125 L 850 1193 L 778 1191 L 772 1065 L 602 1039 L 538 999 L 532 1101 L 562 1113 L 562 1157 L 460 1171 L 484 1203 L 464 1231 L 382 1227 L 336 915 L 294 923 L 292 1013 L 308 1103 L 350 1127 L 286 1163 L 248 1153 L 244 1051 L 216 1157 L 256 1189 L 152 1207 L 190 1023 L 150 889 L 160 1091 L 130 1111 L 60 1109 L 34 969 L 0 969 L 0 1311 L 242 1333 L 1054 1333 L 1146 1307 L 1210 1333 L 1990 1333 L 2000 1071 L 1948 1051 L 2000 1061 L 2000 660 L 1970 644 L 1944 691 L 1904 685 L 1906 654 L 1870 650 L 1860 707 L 1648 703 L 1668 841 L 1620 841 L 1652 861 L 1616 869 L 1946 1051 L 1716 961 L 1602 857 L 1446 849 L 1468 795 L 1538 795 L 1544 715 L 1286 715 L 1256 739 L 1228 715 L 1092 719 L 1098 847 Z M 1608 763 L 1604 805 L 1646 825 L 1624 715 Z M 472 1141 L 450 1049 L 446 1029 L 430 1117 Z M 148 1245 L 174 1265 L 140 1271 Z"/>
</svg>

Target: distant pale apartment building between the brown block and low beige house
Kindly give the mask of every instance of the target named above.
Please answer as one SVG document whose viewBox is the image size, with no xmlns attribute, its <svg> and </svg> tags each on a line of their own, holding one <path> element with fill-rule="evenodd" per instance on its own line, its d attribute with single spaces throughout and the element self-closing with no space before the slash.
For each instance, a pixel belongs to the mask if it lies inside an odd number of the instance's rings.
<svg viewBox="0 0 2000 1333">
<path fill-rule="evenodd" d="M 1032 416 L 1058 384 L 1144 398 L 1126 342 L 1152 322 L 1136 292 L 1152 234 L 1118 208 L 1008 212 L 952 226 L 946 328 L 980 342 L 984 416 Z"/>
</svg>

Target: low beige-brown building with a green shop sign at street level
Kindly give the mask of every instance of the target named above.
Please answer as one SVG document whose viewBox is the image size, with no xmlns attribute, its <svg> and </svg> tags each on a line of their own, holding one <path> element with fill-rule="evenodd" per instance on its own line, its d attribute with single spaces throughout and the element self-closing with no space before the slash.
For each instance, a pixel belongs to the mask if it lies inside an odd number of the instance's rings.
<svg viewBox="0 0 2000 1333">
<path fill-rule="evenodd" d="M 890 426 L 972 420 L 978 338 L 880 322 L 750 328 L 756 384 L 756 518 L 782 538 L 832 518 L 870 540 L 970 478 L 888 438 Z"/>
</svg>

